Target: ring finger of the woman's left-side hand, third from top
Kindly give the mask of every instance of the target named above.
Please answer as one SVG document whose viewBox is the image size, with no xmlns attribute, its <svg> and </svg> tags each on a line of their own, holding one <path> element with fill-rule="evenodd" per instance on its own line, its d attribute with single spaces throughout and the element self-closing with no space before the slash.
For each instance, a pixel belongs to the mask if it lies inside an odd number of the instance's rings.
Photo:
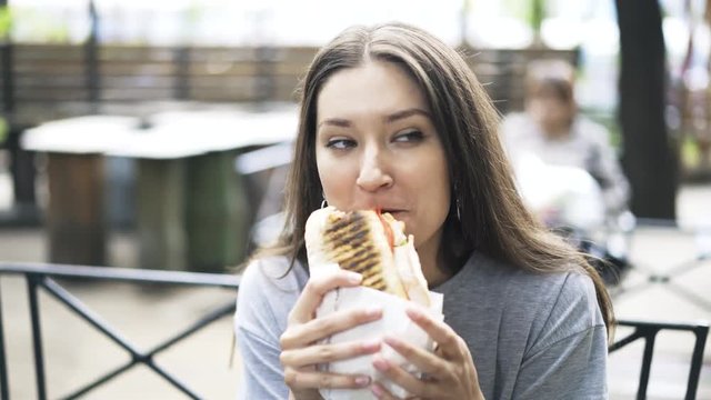
<svg viewBox="0 0 711 400">
<path fill-rule="evenodd" d="M 380 351 L 380 340 L 368 340 L 339 344 L 317 344 L 303 349 L 282 351 L 279 360 L 284 367 L 301 368 L 372 354 Z"/>
</svg>

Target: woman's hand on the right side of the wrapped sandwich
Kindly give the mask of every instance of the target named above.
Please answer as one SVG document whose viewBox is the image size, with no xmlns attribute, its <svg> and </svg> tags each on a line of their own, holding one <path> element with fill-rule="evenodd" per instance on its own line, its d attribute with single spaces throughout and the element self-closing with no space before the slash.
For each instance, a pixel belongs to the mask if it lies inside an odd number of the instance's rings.
<svg viewBox="0 0 711 400">
<path fill-rule="evenodd" d="M 415 348 L 393 337 L 385 337 L 384 342 L 422 371 L 424 378 L 417 379 L 381 357 L 375 357 L 373 367 L 405 389 L 411 394 L 408 399 L 483 399 L 477 368 L 464 340 L 448 324 L 420 310 L 408 309 L 407 312 L 434 340 L 434 352 Z M 371 390 L 379 399 L 397 399 L 379 383 L 373 383 Z"/>
</svg>

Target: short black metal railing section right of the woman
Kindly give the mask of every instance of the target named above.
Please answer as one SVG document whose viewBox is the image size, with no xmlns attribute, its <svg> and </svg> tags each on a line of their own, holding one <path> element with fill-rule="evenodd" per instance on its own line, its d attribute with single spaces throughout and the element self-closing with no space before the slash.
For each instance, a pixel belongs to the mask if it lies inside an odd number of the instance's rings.
<svg viewBox="0 0 711 400">
<path fill-rule="evenodd" d="M 699 388 L 699 377 L 701 376 L 701 366 L 703 363 L 703 350 L 709 336 L 708 323 L 683 324 L 683 323 L 663 323 L 663 322 L 645 322 L 645 321 L 619 321 L 620 327 L 633 328 L 632 333 L 615 341 L 610 346 L 610 352 L 617 351 L 637 340 L 644 340 L 644 353 L 642 356 L 642 367 L 640 372 L 640 381 L 637 389 L 637 399 L 647 399 L 647 388 L 649 386 L 649 376 L 652 367 L 652 356 L 654 354 L 654 343 L 657 334 L 663 330 L 691 332 L 695 337 L 693 352 L 691 353 L 691 363 L 689 369 L 689 379 L 687 381 L 685 400 L 694 400 Z"/>
</svg>

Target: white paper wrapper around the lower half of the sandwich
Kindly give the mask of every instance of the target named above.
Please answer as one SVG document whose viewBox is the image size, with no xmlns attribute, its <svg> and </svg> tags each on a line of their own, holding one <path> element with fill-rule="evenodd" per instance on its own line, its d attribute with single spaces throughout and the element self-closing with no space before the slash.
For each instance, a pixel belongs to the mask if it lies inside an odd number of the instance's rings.
<svg viewBox="0 0 711 400">
<path fill-rule="evenodd" d="M 338 267 L 337 267 L 338 268 Z M 434 318 L 442 320 L 442 300 L 440 293 L 430 292 L 432 306 L 429 311 Z M 339 310 L 348 310 L 351 308 L 382 307 L 382 318 L 350 329 L 344 332 L 337 333 L 328 339 L 330 343 L 340 343 L 348 341 L 367 341 L 381 339 L 385 334 L 394 336 L 403 341 L 412 343 L 423 349 L 431 350 L 433 344 L 429 336 L 418 327 L 405 313 L 405 309 L 412 303 L 399 297 L 370 289 L 364 287 L 341 288 L 326 294 L 321 306 L 317 309 L 317 317 L 324 317 Z M 383 343 L 380 354 L 387 360 L 402 366 L 405 370 L 418 373 L 414 366 L 408 363 L 398 352 L 388 344 Z M 321 366 L 322 370 L 329 370 L 336 373 L 358 373 L 370 376 L 373 381 L 380 381 L 391 393 L 398 397 L 407 397 L 408 393 L 401 387 L 384 379 L 372 366 L 373 354 L 362 356 L 349 360 L 331 362 Z M 359 390 L 343 389 L 322 389 L 321 396 L 326 400 L 360 400 L 375 399 L 370 388 Z"/>
</svg>

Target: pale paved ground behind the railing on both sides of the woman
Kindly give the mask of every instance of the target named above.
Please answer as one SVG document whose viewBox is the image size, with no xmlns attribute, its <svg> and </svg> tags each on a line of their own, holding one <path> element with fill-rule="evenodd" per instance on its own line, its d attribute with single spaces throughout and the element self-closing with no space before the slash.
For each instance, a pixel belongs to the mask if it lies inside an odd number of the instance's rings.
<svg viewBox="0 0 711 400">
<path fill-rule="evenodd" d="M 1 182 L 0 182 L 1 183 Z M 1 200 L 1 196 L 0 196 Z M 682 230 L 639 229 L 632 239 L 635 269 L 622 290 L 617 290 L 614 307 L 619 318 L 692 322 L 711 321 L 711 260 L 675 277 L 668 284 L 648 284 L 650 273 L 673 272 L 702 251 L 711 252 L 711 184 L 685 187 L 679 197 Z M 705 227 L 707 237 L 692 234 Z M 134 264 L 136 251 L 130 234 L 114 234 L 110 241 L 111 264 Z M 43 261 L 46 243 L 40 230 L 0 230 L 0 260 Z M 679 291 L 671 290 L 680 288 Z M 201 311 L 233 299 L 233 293 L 216 289 L 159 289 L 129 284 L 87 282 L 67 284 L 96 312 L 120 329 L 140 349 L 188 326 Z M 6 344 L 10 366 L 12 399 L 34 399 L 32 352 L 26 283 L 17 277 L 0 279 Z M 128 360 L 128 356 L 99 337 L 83 321 L 71 316 L 49 296 L 41 296 L 42 329 L 47 357 L 48 391 L 58 398 L 93 377 Z M 618 334 L 625 332 L 619 330 Z M 229 367 L 231 321 L 222 320 L 186 343 L 158 358 L 159 363 L 183 379 L 208 399 L 232 399 L 240 371 Z M 650 399 L 681 399 L 685 388 L 691 352 L 688 334 L 663 334 L 654 354 Z M 610 389 L 613 399 L 632 399 L 639 377 L 641 344 L 610 357 Z M 239 364 L 237 362 L 236 364 Z M 98 389 L 87 399 L 182 399 L 160 378 L 146 369 L 131 370 L 119 380 Z M 707 343 L 699 399 L 711 399 L 711 340 Z"/>
</svg>

